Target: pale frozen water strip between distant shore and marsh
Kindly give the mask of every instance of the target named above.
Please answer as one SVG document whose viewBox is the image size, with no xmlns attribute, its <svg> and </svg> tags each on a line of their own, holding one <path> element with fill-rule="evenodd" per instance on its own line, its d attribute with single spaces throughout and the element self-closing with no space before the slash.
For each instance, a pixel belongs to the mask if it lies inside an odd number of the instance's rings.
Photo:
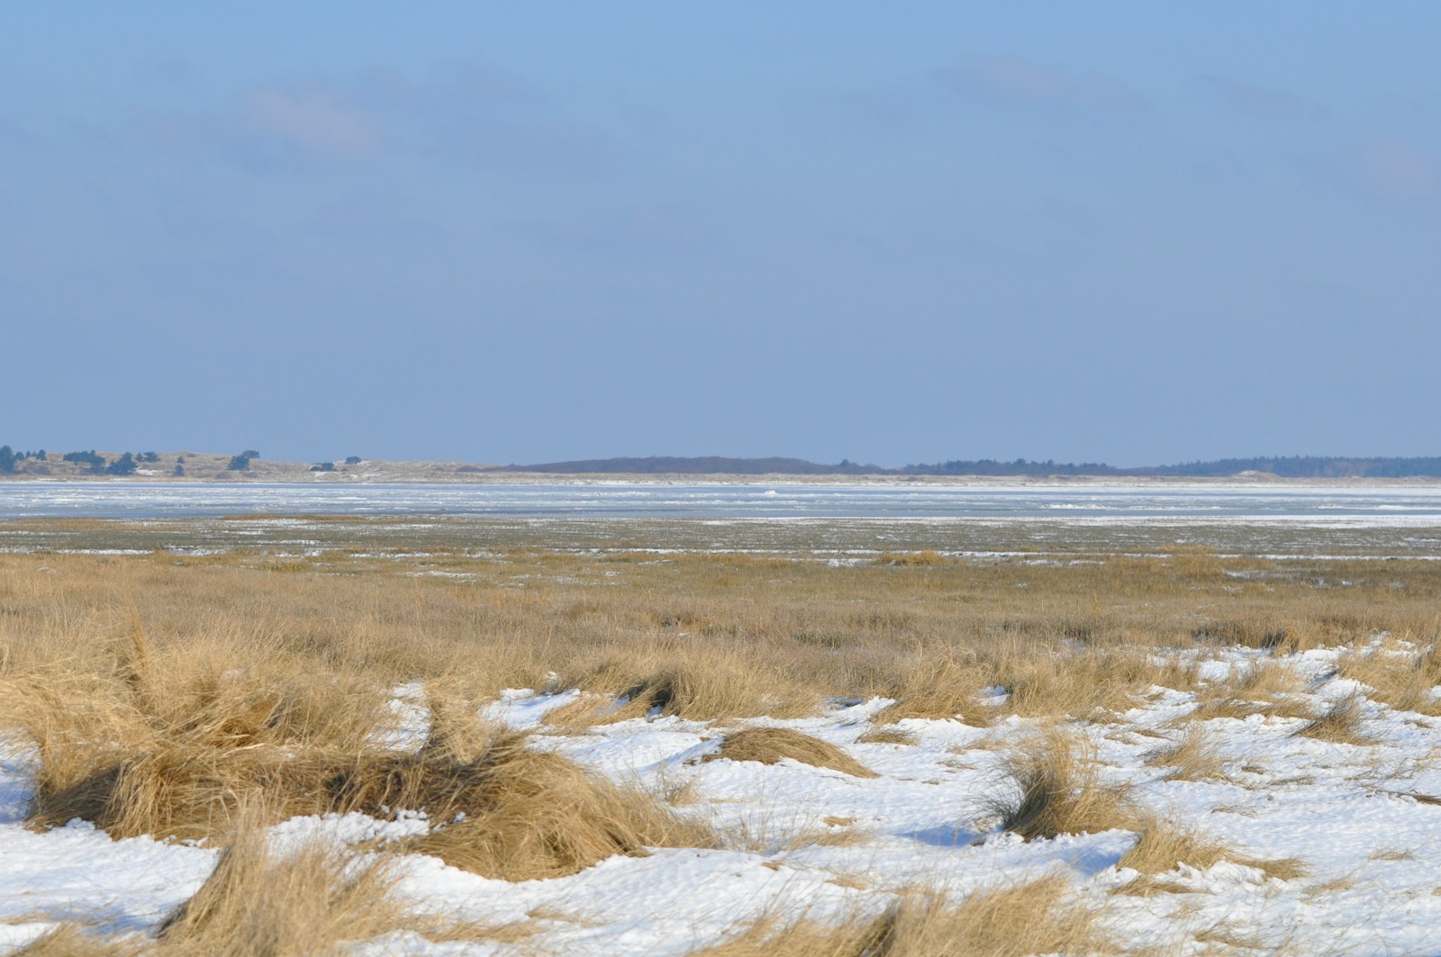
<svg viewBox="0 0 1441 957">
<path fill-rule="evenodd" d="M 350 515 L 633 519 L 1066 519 L 1441 525 L 1441 486 L 0 484 L 0 519 Z"/>
</svg>

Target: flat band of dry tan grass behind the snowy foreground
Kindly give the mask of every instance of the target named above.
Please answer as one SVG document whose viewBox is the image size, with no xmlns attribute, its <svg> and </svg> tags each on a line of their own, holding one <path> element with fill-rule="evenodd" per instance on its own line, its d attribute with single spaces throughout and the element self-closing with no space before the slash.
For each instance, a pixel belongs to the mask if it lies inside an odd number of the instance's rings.
<svg viewBox="0 0 1441 957">
<path fill-rule="evenodd" d="M 357 526 L 333 532 L 363 536 Z M 363 551 L 362 540 L 353 552 Z M 898 699 L 888 716 L 971 719 L 976 690 L 999 683 L 1014 686 L 1016 713 L 1079 713 L 1124 708 L 1147 683 L 1185 687 L 1186 675 L 1128 649 L 1264 644 L 1287 628 L 1327 641 L 1432 634 L 1438 574 L 1395 562 L 1388 587 L 1317 589 L 1321 574 L 1373 581 L 1373 566 L 1271 564 L 1274 574 L 1252 581 L 1229 578 L 1235 562 L 1213 555 L 829 568 L 738 555 L 653 564 L 435 549 L 421 564 L 468 578 L 412 578 L 415 559 L 343 551 L 284 568 L 244 551 L 0 555 L 0 660 L 10 676 L 62 662 L 84 672 L 75 666 L 122 637 L 115 610 L 134 608 L 156 660 L 213 643 L 232 666 L 290 657 L 301 673 L 320 666 L 376 687 L 460 673 L 481 699 L 501 687 L 579 686 L 627 698 L 627 713 L 660 708 L 705 721 L 807 713 L 823 695 L 885 695 Z M 1058 651 L 1074 660 L 1062 667 Z M 1097 677 L 1098 690 L 1076 696 L 1082 682 L 1066 682 L 1075 669 L 1089 669 L 1084 683 Z"/>
</svg>

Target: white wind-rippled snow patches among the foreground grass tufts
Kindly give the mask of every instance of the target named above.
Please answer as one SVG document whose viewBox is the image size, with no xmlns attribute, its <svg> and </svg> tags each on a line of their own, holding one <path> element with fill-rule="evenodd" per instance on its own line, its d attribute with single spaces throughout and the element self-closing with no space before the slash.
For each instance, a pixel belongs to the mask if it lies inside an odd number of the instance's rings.
<svg viewBox="0 0 1441 957">
<path fill-rule="evenodd" d="M 1378 653 L 1391 653 L 1379 650 Z M 1232 649 L 1200 666 L 1222 679 L 1264 653 Z M 542 724 L 575 692 L 510 692 L 487 716 L 535 728 L 532 747 L 558 751 L 618 781 L 657 794 L 684 793 L 686 814 L 728 834 L 725 850 L 657 849 L 617 856 L 581 873 L 510 883 L 405 859 L 401 892 L 424 911 L 487 924 L 529 921 L 530 951 L 565 954 L 684 954 L 742 930 L 762 915 L 842 918 L 883 908 L 895 891 L 935 886 L 955 898 L 978 888 L 1063 871 L 1082 901 L 1105 905 L 1104 924 L 1131 945 L 1203 953 L 1218 940 L 1258 953 L 1282 944 L 1304 954 L 1441 953 L 1441 719 L 1368 700 L 1366 687 L 1334 676 L 1339 651 L 1306 651 L 1285 663 L 1310 682 L 1319 712 L 1359 693 L 1365 732 L 1375 744 L 1333 744 L 1295 731 L 1301 718 L 1254 715 L 1203 724 L 1223 755 L 1218 780 L 1170 780 L 1147 755 L 1176 739 L 1195 695 L 1153 689 L 1134 709 L 1081 725 L 1107 780 L 1136 785 L 1151 810 L 1258 859 L 1298 858 L 1306 875 L 1280 881 L 1222 862 L 1182 866 L 1169 892 L 1115 894 L 1136 878 L 1118 869 L 1133 832 L 1022 842 L 996 832 L 987 800 L 1006 794 L 1004 749 L 1038 722 L 1007 718 L 990 726 L 906 719 L 909 744 L 857 744 L 888 703 L 837 702 L 826 715 L 764 722 L 842 745 L 878 773 L 857 778 L 782 761 L 775 765 L 700 758 L 722 731 L 677 718 L 650 718 L 556 732 Z M 395 708 L 415 741 L 425 734 L 424 698 L 398 689 Z M 405 747 L 403 739 L 382 742 Z M 0 760 L 0 948 L 23 945 L 65 918 L 114 931 L 153 931 L 208 876 L 216 852 L 146 837 L 111 840 L 72 822 L 46 833 L 23 826 L 35 754 L 12 738 Z M 421 822 L 294 819 L 272 829 L 284 847 L 304 837 L 360 840 L 424 827 Z M 1197 941 L 1197 935 L 1209 944 Z M 501 954 L 499 943 L 428 944 L 395 935 L 370 954 Z M 1206 953 L 1215 953 L 1206 951 Z M 1244 953 L 1244 951 L 1242 951 Z"/>
</svg>

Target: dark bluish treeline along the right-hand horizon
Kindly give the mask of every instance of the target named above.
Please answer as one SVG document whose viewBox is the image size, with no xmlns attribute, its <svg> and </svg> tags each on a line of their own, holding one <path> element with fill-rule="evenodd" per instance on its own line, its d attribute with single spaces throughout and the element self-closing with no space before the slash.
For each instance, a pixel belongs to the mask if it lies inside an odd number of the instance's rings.
<svg viewBox="0 0 1441 957">
<path fill-rule="evenodd" d="M 488 471 L 488 470 L 487 470 Z M 726 458 L 722 455 L 646 458 L 586 458 L 537 466 L 501 466 L 496 471 L 610 473 L 610 474 L 732 474 L 732 476 L 1235 476 L 1258 471 L 1282 478 L 1441 478 L 1441 457 L 1342 458 L 1336 455 L 1285 455 L 1267 458 L 1218 458 L 1179 466 L 1121 468 L 1104 463 L 997 461 L 994 458 L 953 460 L 901 468 L 860 466 L 842 460 L 834 466 L 804 458 Z"/>
</svg>

